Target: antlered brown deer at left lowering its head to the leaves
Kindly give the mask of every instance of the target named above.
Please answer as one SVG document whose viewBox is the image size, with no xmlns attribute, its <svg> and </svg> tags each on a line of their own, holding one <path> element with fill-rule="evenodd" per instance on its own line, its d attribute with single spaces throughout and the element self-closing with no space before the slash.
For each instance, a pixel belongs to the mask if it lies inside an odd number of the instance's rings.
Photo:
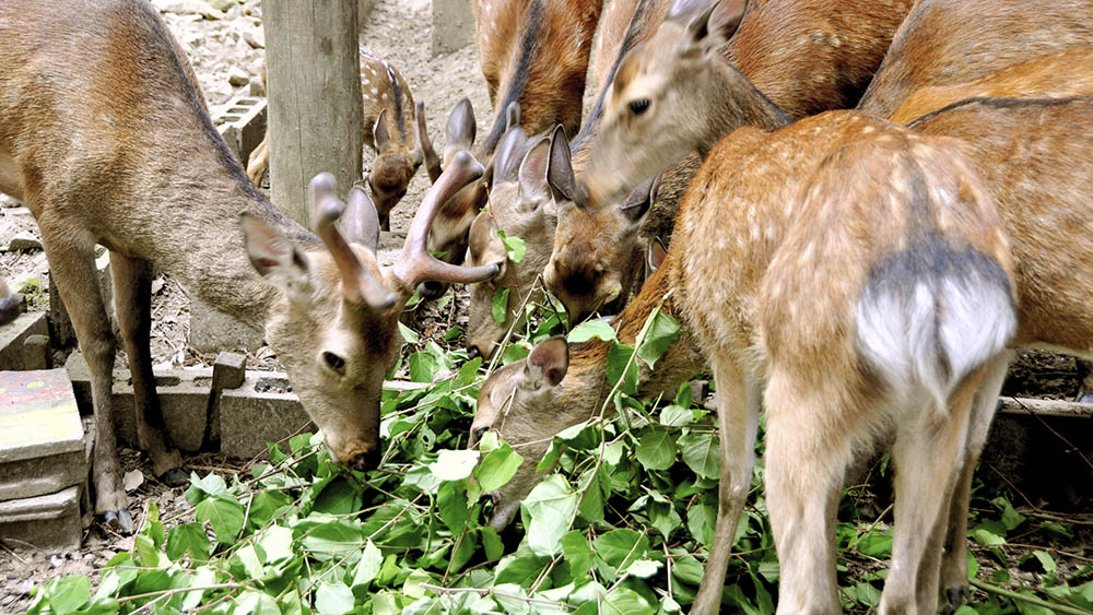
<svg viewBox="0 0 1093 615">
<path fill-rule="evenodd" d="M 36 45 L 23 44 L 27 32 Z M 380 389 L 402 343 L 401 301 L 426 280 L 467 283 L 497 273 L 440 263 L 425 248 L 440 204 L 480 176 L 481 165 L 466 153 L 454 156 L 425 196 L 399 259 L 380 268 L 378 214 L 365 191 L 352 190 L 345 205 L 332 179 L 318 176 L 313 234 L 256 189 L 213 128 L 178 44 L 145 2 L 4 3 L 0 92 L 0 192 L 35 216 L 92 374 L 95 511 L 106 523 L 132 530 L 111 416 L 116 346 L 95 282 L 96 243 L 110 252 L 139 445 L 162 481 L 178 485 L 186 475 L 164 431 L 152 375 L 153 267 L 189 296 L 263 327 L 332 457 L 351 468 L 376 465 Z"/>
</svg>

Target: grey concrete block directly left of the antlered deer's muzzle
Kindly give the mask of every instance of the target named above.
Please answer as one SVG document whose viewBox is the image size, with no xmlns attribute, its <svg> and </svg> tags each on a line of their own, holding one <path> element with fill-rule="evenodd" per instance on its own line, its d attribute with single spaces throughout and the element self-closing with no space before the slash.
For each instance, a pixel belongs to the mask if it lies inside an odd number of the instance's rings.
<svg viewBox="0 0 1093 615">
<path fill-rule="evenodd" d="M 266 452 L 267 442 L 292 436 L 302 427 L 314 430 L 304 406 L 291 392 L 284 374 L 250 371 L 238 389 L 220 397 L 220 451 L 251 458 Z"/>
</svg>

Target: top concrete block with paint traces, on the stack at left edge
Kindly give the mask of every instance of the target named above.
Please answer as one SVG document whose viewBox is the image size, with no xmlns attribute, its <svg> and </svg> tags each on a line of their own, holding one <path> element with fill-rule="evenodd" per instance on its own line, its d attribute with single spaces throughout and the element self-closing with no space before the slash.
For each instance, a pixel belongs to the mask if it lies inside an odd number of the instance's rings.
<svg viewBox="0 0 1093 615">
<path fill-rule="evenodd" d="M 0 500 L 81 484 L 83 425 L 63 369 L 0 371 Z"/>
</svg>

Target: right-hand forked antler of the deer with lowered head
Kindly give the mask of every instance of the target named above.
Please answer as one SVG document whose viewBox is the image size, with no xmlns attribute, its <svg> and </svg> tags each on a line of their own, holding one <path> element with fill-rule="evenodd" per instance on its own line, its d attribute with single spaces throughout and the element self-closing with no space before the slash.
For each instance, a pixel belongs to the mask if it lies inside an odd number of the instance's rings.
<svg viewBox="0 0 1093 615">
<path fill-rule="evenodd" d="M 426 248 L 428 228 L 440 210 L 440 205 L 463 186 L 481 177 L 483 170 L 482 165 L 468 152 L 458 152 L 425 194 L 425 199 L 410 225 L 410 232 L 407 233 L 402 255 L 393 267 L 395 276 L 408 287 L 416 288 L 418 284 L 428 280 L 472 284 L 489 280 L 501 271 L 496 264 L 459 267 L 440 262 L 428 253 Z"/>
</svg>

